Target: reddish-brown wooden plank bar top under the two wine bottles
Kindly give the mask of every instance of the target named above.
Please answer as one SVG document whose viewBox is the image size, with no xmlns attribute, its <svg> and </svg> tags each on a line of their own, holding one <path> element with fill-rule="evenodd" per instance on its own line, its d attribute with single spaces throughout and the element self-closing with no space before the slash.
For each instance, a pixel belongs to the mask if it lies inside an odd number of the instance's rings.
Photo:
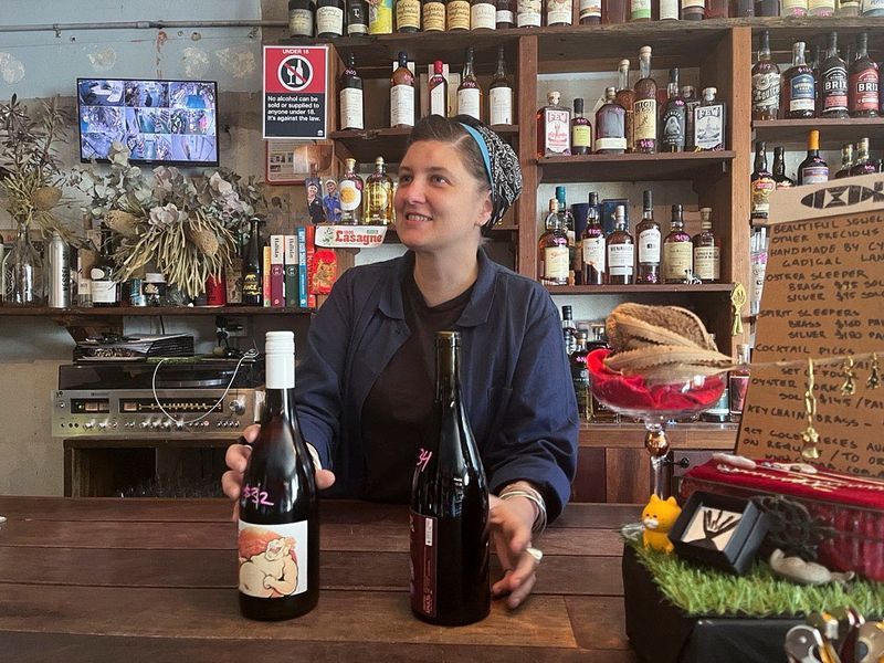
<svg viewBox="0 0 884 663">
<path fill-rule="evenodd" d="M 411 615 L 406 507 L 326 501 L 322 512 L 319 607 L 267 623 L 240 614 L 227 501 L 0 496 L 2 650 L 65 663 L 635 661 L 618 529 L 638 506 L 569 505 L 536 541 L 530 599 L 515 611 L 495 601 L 460 628 Z"/>
</svg>

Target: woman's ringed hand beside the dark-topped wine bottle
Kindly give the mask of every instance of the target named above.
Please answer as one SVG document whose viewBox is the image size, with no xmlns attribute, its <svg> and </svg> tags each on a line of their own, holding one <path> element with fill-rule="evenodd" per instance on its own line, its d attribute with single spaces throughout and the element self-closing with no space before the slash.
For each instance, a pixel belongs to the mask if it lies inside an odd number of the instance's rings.
<svg viewBox="0 0 884 663">
<path fill-rule="evenodd" d="M 508 594 L 506 604 L 518 608 L 537 581 L 539 560 L 528 551 L 535 507 L 524 497 L 501 499 L 491 495 L 491 536 L 504 577 L 492 586 L 492 596 Z"/>
</svg>

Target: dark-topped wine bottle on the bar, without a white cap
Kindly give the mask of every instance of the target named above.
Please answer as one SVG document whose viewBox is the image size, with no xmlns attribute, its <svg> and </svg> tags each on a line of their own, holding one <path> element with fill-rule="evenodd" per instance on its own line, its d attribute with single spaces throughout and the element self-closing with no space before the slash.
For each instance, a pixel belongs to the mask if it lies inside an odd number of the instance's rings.
<svg viewBox="0 0 884 663">
<path fill-rule="evenodd" d="M 411 484 L 411 610 L 430 623 L 484 619 L 488 486 L 461 396 L 461 335 L 436 332 L 435 403 Z"/>
</svg>

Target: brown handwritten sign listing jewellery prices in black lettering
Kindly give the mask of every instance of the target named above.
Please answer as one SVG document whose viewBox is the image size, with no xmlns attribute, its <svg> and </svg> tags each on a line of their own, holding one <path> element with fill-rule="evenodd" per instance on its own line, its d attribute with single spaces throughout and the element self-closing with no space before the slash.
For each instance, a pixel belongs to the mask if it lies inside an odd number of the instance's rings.
<svg viewBox="0 0 884 663">
<path fill-rule="evenodd" d="M 753 373 L 737 452 L 801 460 L 807 359 L 877 352 L 884 365 L 884 175 L 776 191 Z M 759 366 L 788 361 L 789 366 Z M 803 364 L 801 364 L 803 361 Z M 798 364 L 796 364 L 798 362 Z M 814 367 L 817 463 L 884 477 L 884 385 L 856 361 Z"/>
</svg>

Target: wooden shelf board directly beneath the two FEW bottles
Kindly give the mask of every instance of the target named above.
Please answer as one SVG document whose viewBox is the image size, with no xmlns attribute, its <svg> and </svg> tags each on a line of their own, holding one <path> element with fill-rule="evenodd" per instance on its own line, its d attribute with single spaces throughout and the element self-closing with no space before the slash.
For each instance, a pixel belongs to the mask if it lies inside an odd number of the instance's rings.
<svg viewBox="0 0 884 663">
<path fill-rule="evenodd" d="M 733 150 L 657 155 L 541 157 L 540 182 L 638 182 L 713 179 L 727 172 Z"/>
</svg>

